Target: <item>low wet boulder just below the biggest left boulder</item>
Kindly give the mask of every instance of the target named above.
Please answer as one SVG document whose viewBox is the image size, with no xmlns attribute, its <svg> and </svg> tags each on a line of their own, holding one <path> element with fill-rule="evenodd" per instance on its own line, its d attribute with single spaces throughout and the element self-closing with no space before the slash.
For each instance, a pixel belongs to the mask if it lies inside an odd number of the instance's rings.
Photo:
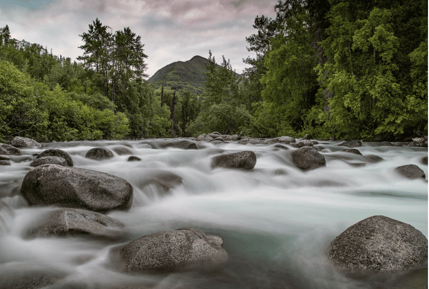
<svg viewBox="0 0 429 289">
<path fill-rule="evenodd" d="M 82 209 L 57 209 L 46 213 L 38 224 L 28 230 L 27 238 L 89 235 L 113 237 L 123 225 L 100 213 Z"/>
</svg>

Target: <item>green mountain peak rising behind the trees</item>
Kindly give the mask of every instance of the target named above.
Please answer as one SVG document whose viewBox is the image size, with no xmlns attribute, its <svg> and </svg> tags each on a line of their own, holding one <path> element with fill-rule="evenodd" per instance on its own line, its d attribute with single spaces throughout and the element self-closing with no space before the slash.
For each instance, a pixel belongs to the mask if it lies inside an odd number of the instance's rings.
<svg viewBox="0 0 429 289">
<path fill-rule="evenodd" d="M 170 86 L 172 89 L 189 88 L 196 93 L 201 93 L 204 89 L 205 65 L 208 63 L 208 59 L 195 55 L 188 61 L 177 61 L 163 67 L 155 72 L 147 82 L 153 84 L 155 88 L 161 86 Z M 218 65 L 218 67 L 221 66 Z"/>
</svg>

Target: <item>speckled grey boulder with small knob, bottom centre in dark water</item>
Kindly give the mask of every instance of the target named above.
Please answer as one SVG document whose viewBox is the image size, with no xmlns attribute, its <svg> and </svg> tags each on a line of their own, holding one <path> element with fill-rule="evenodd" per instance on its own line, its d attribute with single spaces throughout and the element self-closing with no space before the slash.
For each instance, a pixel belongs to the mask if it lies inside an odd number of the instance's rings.
<svg viewBox="0 0 429 289">
<path fill-rule="evenodd" d="M 180 228 L 142 236 L 121 249 L 127 271 L 219 264 L 228 260 L 222 238 Z"/>
</svg>

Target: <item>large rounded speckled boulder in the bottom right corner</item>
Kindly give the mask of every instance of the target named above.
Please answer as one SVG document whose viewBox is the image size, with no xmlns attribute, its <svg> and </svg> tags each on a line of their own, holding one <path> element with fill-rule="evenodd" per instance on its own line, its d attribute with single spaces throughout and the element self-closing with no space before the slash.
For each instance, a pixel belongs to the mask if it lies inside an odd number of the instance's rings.
<svg viewBox="0 0 429 289">
<path fill-rule="evenodd" d="M 372 216 L 348 227 L 328 249 L 337 264 L 370 270 L 402 270 L 427 260 L 427 239 L 413 226 Z"/>
</svg>

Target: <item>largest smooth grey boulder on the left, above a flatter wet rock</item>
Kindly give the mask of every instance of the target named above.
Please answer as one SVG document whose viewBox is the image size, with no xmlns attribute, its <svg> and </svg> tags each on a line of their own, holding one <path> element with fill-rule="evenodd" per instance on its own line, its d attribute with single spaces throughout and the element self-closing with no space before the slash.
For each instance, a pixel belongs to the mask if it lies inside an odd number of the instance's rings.
<svg viewBox="0 0 429 289">
<path fill-rule="evenodd" d="M 133 188 L 105 172 L 43 164 L 27 172 L 21 188 L 30 205 L 57 205 L 94 212 L 129 210 Z"/>
</svg>

